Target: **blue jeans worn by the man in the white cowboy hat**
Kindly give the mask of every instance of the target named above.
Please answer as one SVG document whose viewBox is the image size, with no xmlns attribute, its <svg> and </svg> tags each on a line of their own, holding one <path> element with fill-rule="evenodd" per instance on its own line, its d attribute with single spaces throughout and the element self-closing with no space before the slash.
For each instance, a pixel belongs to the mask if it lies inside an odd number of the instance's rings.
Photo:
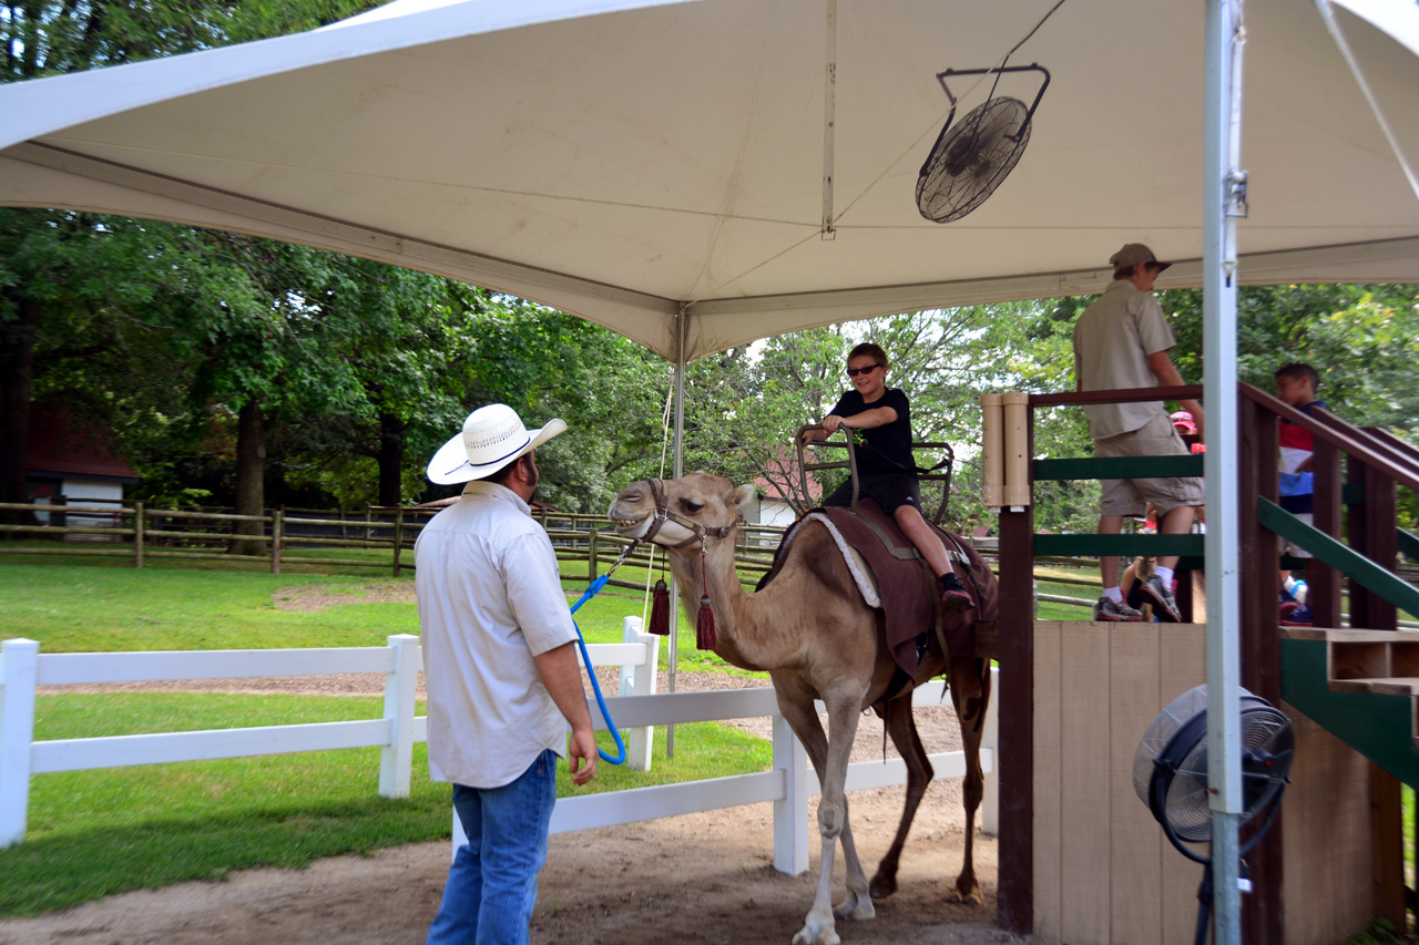
<svg viewBox="0 0 1419 945">
<path fill-rule="evenodd" d="M 468 843 L 454 854 L 427 945 L 526 945 L 555 803 L 553 751 L 502 788 L 453 786 Z"/>
</svg>

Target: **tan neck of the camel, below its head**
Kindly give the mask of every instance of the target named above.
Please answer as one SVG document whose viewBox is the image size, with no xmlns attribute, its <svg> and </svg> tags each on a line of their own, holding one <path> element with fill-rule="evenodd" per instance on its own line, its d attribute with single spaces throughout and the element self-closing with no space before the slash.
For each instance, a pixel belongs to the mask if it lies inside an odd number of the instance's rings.
<svg viewBox="0 0 1419 945">
<path fill-rule="evenodd" d="M 700 596 L 708 586 L 710 606 L 714 609 L 715 653 L 742 670 L 776 670 L 797 657 L 795 636 L 775 631 L 763 619 L 763 596 L 745 592 L 734 568 L 734 543 L 711 541 L 704 558 L 698 548 L 690 553 L 671 553 L 671 570 L 680 586 L 680 599 L 691 621 L 700 612 Z"/>
</svg>

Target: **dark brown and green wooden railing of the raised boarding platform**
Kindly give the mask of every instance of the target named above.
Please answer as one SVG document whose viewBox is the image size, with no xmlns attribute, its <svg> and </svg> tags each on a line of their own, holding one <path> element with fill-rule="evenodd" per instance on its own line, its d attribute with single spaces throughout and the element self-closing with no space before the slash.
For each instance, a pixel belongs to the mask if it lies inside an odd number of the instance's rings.
<svg viewBox="0 0 1419 945">
<path fill-rule="evenodd" d="M 1396 487 L 1419 491 L 1419 451 L 1381 430 L 1359 430 L 1340 417 L 1314 417 L 1281 403 L 1250 385 L 1239 385 L 1237 467 L 1242 509 L 1242 680 L 1263 698 L 1280 701 L 1279 609 L 1280 568 L 1305 568 L 1310 603 L 1318 627 L 1341 626 L 1341 599 L 1348 582 L 1352 627 L 1393 630 L 1395 603 L 1419 606 L 1419 592 L 1396 578 L 1401 548 L 1419 555 L 1419 538 L 1396 522 Z M 1033 394 L 1029 397 L 1027 454 L 1034 455 L 1033 409 L 1061 404 L 1134 403 L 1200 399 L 1200 386 L 1152 387 L 1135 392 Z M 1315 440 L 1313 458 L 1314 525 L 1283 512 L 1279 498 L 1277 417 L 1308 430 Z M 1138 475 L 1200 475 L 1202 457 L 1141 457 L 1037 460 L 1034 481 Z M 1313 559 L 1280 555 L 1279 532 L 1328 549 Z M 1200 535 L 1036 535 L 1033 507 L 1000 511 L 1000 765 L 1010 772 L 1002 785 L 1002 807 L 1010 816 L 1000 836 L 1000 921 L 1006 928 L 1030 928 L 1033 911 L 1033 614 L 1030 580 L 1039 555 L 1181 555 L 1179 610 L 1191 607 L 1182 593 L 1189 566 L 1200 566 Z M 1348 541 L 1347 541 L 1348 539 Z M 1342 552 L 1334 551 L 1335 548 Z M 1183 610 L 1183 619 L 1191 614 Z M 1016 829 L 1017 827 L 1017 829 Z M 1280 908 L 1274 844 L 1257 853 L 1269 878 L 1253 894 L 1261 908 Z M 1264 887 L 1264 888 L 1263 888 Z M 1261 902 L 1266 900 L 1266 902 Z"/>
</svg>

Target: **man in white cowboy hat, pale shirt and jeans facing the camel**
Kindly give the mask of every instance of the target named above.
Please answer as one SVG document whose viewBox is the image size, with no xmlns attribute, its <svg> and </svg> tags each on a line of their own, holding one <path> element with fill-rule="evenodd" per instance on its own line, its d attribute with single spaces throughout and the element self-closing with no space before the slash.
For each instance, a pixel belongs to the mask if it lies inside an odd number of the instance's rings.
<svg viewBox="0 0 1419 945">
<path fill-rule="evenodd" d="M 552 542 L 528 508 L 534 450 L 566 430 L 526 430 L 495 403 L 429 463 L 463 497 L 414 545 L 429 687 L 429 773 L 453 782 L 468 836 L 448 870 L 429 942 L 526 942 L 556 802 L 556 756 L 572 780 L 596 773 L 576 664 L 576 627 Z M 568 745 L 566 728 L 572 738 Z"/>
</svg>

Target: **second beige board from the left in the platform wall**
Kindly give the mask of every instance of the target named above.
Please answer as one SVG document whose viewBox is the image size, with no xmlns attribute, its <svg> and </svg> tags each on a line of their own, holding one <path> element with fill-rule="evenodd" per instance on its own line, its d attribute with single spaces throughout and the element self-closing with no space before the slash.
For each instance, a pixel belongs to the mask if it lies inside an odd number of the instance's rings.
<svg viewBox="0 0 1419 945">
<path fill-rule="evenodd" d="M 1060 932 L 1067 942 L 1110 927 L 1110 633 L 1100 623 L 1066 624 L 1060 633 Z"/>
</svg>

